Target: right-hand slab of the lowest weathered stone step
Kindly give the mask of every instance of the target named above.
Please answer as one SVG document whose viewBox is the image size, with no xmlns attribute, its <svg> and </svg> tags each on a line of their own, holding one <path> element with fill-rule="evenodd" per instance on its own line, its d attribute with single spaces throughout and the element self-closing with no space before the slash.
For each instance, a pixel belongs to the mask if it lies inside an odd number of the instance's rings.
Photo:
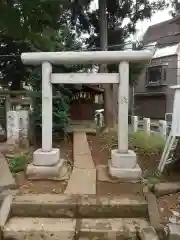
<svg viewBox="0 0 180 240">
<path fill-rule="evenodd" d="M 137 240 L 137 229 L 147 227 L 144 219 L 82 219 L 79 239 L 131 239 Z"/>
</svg>

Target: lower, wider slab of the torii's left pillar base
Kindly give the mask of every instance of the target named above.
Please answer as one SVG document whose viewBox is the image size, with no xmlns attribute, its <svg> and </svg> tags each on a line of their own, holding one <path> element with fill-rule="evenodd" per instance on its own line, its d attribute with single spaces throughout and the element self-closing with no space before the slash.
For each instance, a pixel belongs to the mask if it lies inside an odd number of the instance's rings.
<svg viewBox="0 0 180 240">
<path fill-rule="evenodd" d="M 70 169 L 64 161 L 61 159 L 58 164 L 54 166 L 35 166 L 29 164 L 27 167 L 27 177 L 31 180 L 67 180 L 69 179 Z"/>
</svg>

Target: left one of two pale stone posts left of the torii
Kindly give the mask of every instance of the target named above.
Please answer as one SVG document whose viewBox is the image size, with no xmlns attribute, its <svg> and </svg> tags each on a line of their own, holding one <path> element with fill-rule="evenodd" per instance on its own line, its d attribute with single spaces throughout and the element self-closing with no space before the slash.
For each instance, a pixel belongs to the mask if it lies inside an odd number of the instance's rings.
<svg viewBox="0 0 180 240">
<path fill-rule="evenodd" d="M 16 111 L 7 112 L 7 143 L 19 143 L 19 116 Z"/>
</svg>

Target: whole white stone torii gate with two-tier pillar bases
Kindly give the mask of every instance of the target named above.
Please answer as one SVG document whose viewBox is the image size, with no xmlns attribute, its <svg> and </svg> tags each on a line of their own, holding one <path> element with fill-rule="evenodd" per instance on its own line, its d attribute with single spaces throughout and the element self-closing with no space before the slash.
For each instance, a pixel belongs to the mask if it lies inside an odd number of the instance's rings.
<svg viewBox="0 0 180 240">
<path fill-rule="evenodd" d="M 139 180 L 136 154 L 128 150 L 129 62 L 152 59 L 150 51 L 33 52 L 22 53 L 27 65 L 42 65 L 42 148 L 34 152 L 29 177 L 59 177 L 60 150 L 52 148 L 52 84 L 118 84 L 118 149 L 111 151 L 109 171 L 114 177 Z M 52 73 L 52 64 L 119 64 L 119 73 Z"/>
</svg>

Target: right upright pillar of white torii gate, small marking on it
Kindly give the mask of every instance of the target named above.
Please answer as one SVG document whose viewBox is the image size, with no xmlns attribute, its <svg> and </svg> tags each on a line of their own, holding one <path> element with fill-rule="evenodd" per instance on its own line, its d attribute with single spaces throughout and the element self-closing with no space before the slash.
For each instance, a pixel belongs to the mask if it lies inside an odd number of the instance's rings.
<svg viewBox="0 0 180 240">
<path fill-rule="evenodd" d="M 129 63 L 119 64 L 118 152 L 128 153 Z"/>
</svg>

